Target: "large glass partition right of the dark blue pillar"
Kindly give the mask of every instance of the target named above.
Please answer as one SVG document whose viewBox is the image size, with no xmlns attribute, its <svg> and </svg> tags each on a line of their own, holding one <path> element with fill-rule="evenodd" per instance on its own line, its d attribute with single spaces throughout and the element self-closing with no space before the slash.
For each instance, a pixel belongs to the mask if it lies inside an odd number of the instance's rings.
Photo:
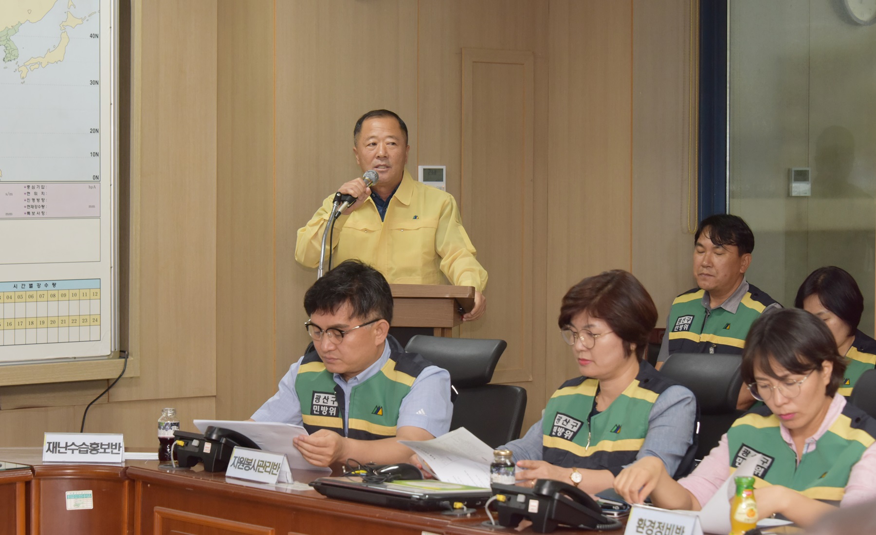
<svg viewBox="0 0 876 535">
<path fill-rule="evenodd" d="M 809 272 L 842 267 L 872 335 L 876 25 L 844 1 L 728 3 L 728 211 L 754 231 L 753 285 L 794 306 Z"/>
</svg>

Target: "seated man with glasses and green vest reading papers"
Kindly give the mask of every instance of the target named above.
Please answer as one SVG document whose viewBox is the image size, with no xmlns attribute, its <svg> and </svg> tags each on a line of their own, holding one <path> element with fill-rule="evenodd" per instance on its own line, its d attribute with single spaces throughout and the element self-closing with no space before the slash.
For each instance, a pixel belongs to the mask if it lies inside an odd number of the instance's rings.
<svg viewBox="0 0 876 535">
<path fill-rule="evenodd" d="M 399 440 L 448 432 L 450 375 L 388 334 L 392 293 L 379 271 L 343 262 L 307 290 L 304 310 L 313 346 L 253 420 L 304 426 L 294 446 L 317 466 L 407 461 Z"/>
</svg>

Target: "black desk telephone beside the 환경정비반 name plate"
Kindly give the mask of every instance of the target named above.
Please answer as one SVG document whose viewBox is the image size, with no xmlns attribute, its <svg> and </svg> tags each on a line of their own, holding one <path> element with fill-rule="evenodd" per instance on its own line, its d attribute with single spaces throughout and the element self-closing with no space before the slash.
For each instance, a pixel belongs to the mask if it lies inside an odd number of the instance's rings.
<svg viewBox="0 0 876 535">
<path fill-rule="evenodd" d="M 517 485 L 492 485 L 498 498 L 498 523 L 516 527 L 524 518 L 533 523 L 536 533 L 549 533 L 560 524 L 590 530 L 617 530 L 623 524 L 607 518 L 602 508 L 586 492 L 552 479 L 535 481 L 532 489 Z"/>
</svg>

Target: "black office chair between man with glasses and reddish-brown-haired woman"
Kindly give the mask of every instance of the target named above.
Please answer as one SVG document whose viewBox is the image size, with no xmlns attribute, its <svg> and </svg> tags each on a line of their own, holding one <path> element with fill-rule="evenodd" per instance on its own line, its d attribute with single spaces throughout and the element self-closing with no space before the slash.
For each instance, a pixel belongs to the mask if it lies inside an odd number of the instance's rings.
<svg viewBox="0 0 876 535">
<path fill-rule="evenodd" d="M 450 431 L 465 427 L 491 447 L 519 438 L 526 411 L 526 389 L 511 384 L 488 384 L 507 345 L 504 340 L 417 334 L 405 348 L 450 372 L 450 383 L 459 392 L 453 404 Z"/>
</svg>

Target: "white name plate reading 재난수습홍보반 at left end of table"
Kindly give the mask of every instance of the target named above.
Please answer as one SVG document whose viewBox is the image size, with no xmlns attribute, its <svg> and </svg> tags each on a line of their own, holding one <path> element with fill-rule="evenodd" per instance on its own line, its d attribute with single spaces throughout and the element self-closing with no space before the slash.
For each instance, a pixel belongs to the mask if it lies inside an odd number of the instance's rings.
<svg viewBox="0 0 876 535">
<path fill-rule="evenodd" d="M 46 433 L 43 462 L 124 462 L 121 433 Z"/>
</svg>

